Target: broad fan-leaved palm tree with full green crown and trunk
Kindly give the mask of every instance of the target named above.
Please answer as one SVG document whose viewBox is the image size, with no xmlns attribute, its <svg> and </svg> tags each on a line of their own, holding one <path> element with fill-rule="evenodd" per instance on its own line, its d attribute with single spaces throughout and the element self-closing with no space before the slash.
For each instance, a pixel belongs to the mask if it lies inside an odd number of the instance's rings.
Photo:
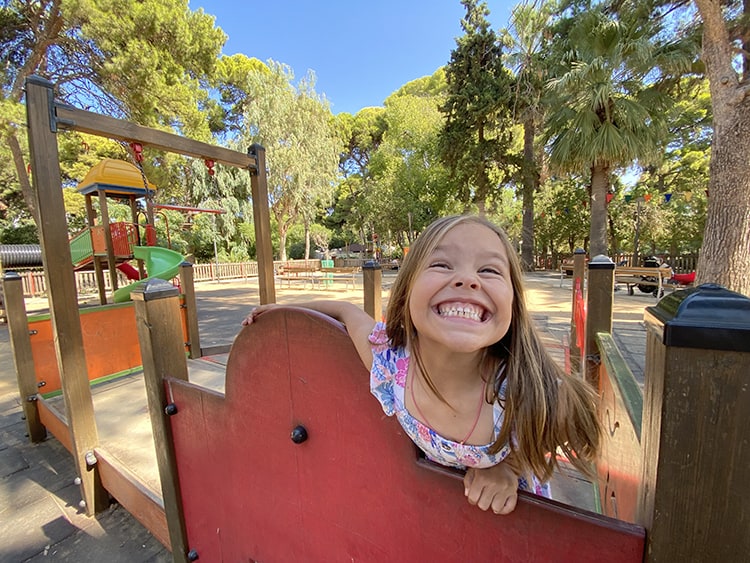
<svg viewBox="0 0 750 563">
<path fill-rule="evenodd" d="M 658 23 L 615 19 L 592 8 L 562 20 L 563 71 L 550 83 L 550 164 L 590 175 L 590 253 L 607 254 L 607 193 L 617 167 L 655 162 L 671 100 L 660 89 L 679 62 L 674 44 L 658 44 Z"/>
</svg>

